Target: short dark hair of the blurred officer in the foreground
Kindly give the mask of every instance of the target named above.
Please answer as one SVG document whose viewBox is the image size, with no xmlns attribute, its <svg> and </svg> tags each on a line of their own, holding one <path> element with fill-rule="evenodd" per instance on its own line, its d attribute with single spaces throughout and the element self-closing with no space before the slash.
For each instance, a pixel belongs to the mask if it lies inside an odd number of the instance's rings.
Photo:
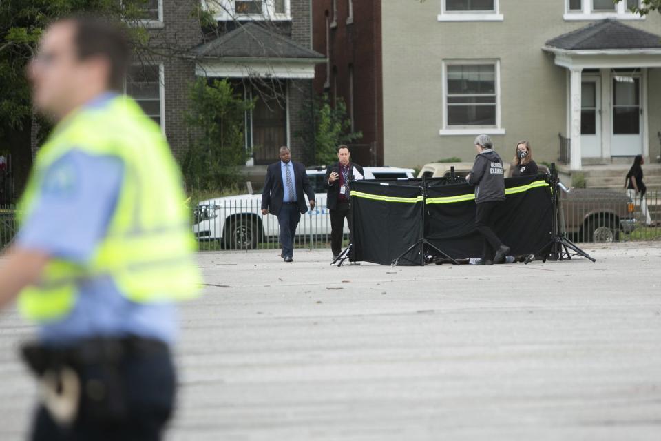
<svg viewBox="0 0 661 441">
<path fill-rule="evenodd" d="M 108 88 L 122 92 L 132 55 L 132 45 L 125 30 L 114 21 L 90 15 L 75 15 L 60 21 L 74 25 L 78 59 L 105 57 L 110 65 Z"/>
</svg>

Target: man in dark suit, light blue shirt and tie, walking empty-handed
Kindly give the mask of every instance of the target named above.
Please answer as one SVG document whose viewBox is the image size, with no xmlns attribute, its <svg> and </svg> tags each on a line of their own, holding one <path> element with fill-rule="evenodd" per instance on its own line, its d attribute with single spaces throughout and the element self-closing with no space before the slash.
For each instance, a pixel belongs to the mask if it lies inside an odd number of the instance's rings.
<svg viewBox="0 0 661 441">
<path fill-rule="evenodd" d="M 305 203 L 308 196 L 310 208 L 315 207 L 315 193 L 302 163 L 291 161 L 289 147 L 280 147 L 280 161 L 269 165 L 262 192 L 262 214 L 277 216 L 280 224 L 282 258 L 291 262 L 294 255 L 294 236 L 301 214 L 308 211 Z"/>
</svg>

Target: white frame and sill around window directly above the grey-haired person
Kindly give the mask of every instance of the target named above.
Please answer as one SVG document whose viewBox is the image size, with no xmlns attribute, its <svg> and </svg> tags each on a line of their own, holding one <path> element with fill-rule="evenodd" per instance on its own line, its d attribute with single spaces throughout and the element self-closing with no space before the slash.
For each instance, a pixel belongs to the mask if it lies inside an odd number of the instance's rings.
<svg viewBox="0 0 661 441">
<path fill-rule="evenodd" d="M 492 64 L 495 70 L 496 90 L 496 123 L 495 125 L 448 125 L 448 66 L 449 65 L 481 65 Z M 501 125 L 501 61 L 500 59 L 446 59 L 443 60 L 442 70 L 443 89 L 443 127 L 439 130 L 440 136 L 456 135 L 504 135 L 505 129 Z"/>
</svg>

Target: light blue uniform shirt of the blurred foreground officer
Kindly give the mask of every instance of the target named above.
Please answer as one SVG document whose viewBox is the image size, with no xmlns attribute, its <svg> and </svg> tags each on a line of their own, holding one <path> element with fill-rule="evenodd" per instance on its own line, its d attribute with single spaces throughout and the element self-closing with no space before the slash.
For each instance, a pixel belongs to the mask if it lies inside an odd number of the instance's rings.
<svg viewBox="0 0 661 441">
<path fill-rule="evenodd" d="M 103 240 L 123 183 L 124 165 L 112 156 L 72 150 L 45 172 L 36 207 L 25 219 L 17 245 L 54 258 L 85 263 Z M 70 314 L 41 325 L 45 344 L 67 345 L 90 337 L 140 336 L 167 343 L 176 334 L 171 302 L 141 304 L 128 300 L 112 278 L 78 285 Z"/>
</svg>

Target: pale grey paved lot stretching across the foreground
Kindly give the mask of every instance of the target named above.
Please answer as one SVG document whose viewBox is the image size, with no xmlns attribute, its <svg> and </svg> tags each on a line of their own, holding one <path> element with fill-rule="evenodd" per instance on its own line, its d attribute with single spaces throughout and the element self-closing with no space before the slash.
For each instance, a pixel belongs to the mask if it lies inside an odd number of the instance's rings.
<svg viewBox="0 0 661 441">
<path fill-rule="evenodd" d="M 392 269 L 329 251 L 202 253 L 169 440 L 659 440 L 661 243 L 597 263 Z M 33 329 L 0 313 L 0 440 Z"/>
</svg>

